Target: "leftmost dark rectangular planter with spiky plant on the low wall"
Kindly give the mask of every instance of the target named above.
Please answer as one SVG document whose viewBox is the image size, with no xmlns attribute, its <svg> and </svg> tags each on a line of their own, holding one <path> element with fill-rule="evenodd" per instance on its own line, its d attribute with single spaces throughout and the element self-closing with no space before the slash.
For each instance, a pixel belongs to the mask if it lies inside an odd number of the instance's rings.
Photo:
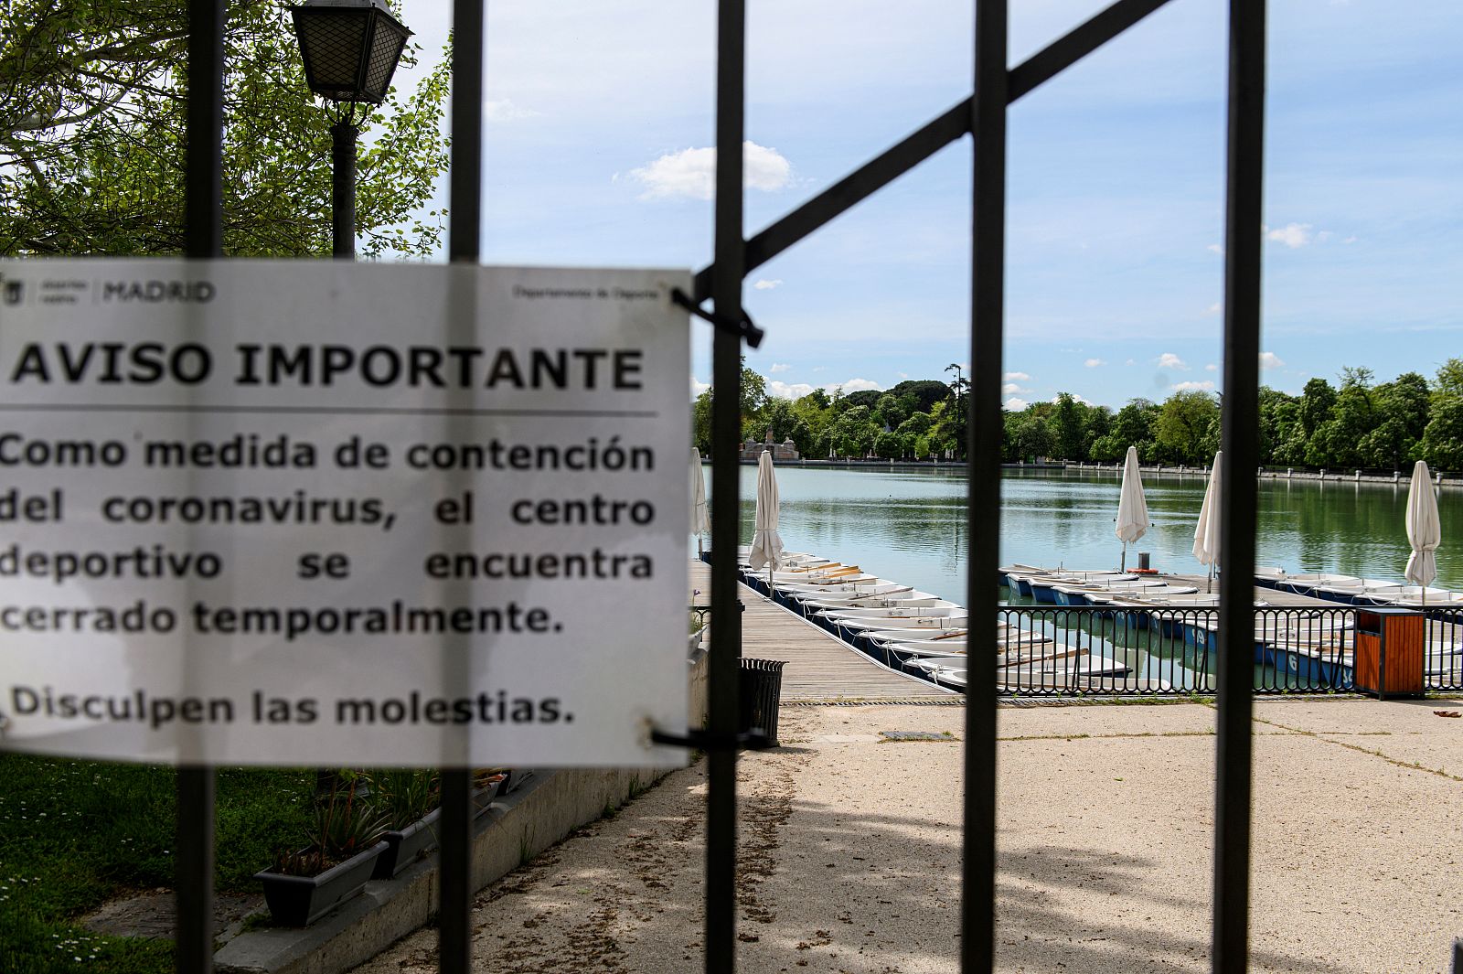
<svg viewBox="0 0 1463 974">
<path fill-rule="evenodd" d="M 277 924 L 303 927 L 315 923 L 358 894 L 386 851 L 380 838 L 385 816 L 356 787 L 356 772 L 342 771 L 316 804 L 304 848 L 279 854 L 272 867 L 255 873 L 263 883 L 265 904 Z"/>
</svg>

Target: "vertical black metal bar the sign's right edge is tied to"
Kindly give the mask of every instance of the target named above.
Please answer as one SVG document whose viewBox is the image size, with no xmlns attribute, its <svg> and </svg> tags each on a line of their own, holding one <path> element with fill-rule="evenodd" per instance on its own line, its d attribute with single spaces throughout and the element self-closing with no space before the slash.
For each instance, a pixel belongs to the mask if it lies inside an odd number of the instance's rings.
<svg viewBox="0 0 1463 974">
<path fill-rule="evenodd" d="M 717 6 L 715 310 L 742 316 L 742 139 L 746 48 L 745 0 Z M 742 440 L 742 339 L 717 329 L 711 342 L 711 699 L 714 740 L 737 731 L 742 613 L 736 591 L 742 518 L 737 462 Z M 707 756 L 707 974 L 736 970 L 736 750 Z"/>
</svg>

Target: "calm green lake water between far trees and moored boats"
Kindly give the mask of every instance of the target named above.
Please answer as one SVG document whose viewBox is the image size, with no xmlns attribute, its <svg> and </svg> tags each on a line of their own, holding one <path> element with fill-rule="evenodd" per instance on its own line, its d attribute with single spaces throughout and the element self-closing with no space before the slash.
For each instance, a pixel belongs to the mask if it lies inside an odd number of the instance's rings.
<svg viewBox="0 0 1463 974">
<path fill-rule="evenodd" d="M 710 486 L 710 468 L 707 481 Z M 860 565 L 904 585 L 966 601 L 966 478 L 951 471 L 857 471 L 780 467 L 780 531 L 793 551 Z M 1002 480 L 1001 563 L 1118 567 L 1116 471 Z M 1407 483 L 1260 481 L 1258 563 L 1289 572 L 1343 572 L 1402 581 L 1410 548 L 1403 526 Z M 1150 477 L 1153 526 L 1128 548 L 1163 572 L 1203 573 L 1191 554 L 1206 480 Z M 742 468 L 742 543 L 752 538 L 756 468 Z M 1438 497 L 1443 545 L 1434 585 L 1463 589 L 1463 491 Z M 995 566 L 992 566 L 995 567 Z"/>
</svg>

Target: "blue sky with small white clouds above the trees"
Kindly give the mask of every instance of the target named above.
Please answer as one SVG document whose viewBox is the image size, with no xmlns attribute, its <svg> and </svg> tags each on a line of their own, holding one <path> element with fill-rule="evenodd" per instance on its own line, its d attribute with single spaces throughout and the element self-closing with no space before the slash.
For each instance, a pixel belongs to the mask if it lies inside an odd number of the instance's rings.
<svg viewBox="0 0 1463 974">
<path fill-rule="evenodd" d="M 748 1 L 746 235 L 969 97 L 971 6 Z M 1014 66 L 1103 4 L 1011 6 Z M 484 262 L 710 263 L 715 4 L 487 9 Z M 1009 408 L 1220 386 L 1226 12 L 1172 0 L 1011 107 Z M 426 60 L 449 16 L 404 0 Z M 1431 379 L 1463 355 L 1463 3 L 1273 0 L 1268 26 L 1261 382 Z M 770 392 L 969 367 L 970 158 L 961 139 L 748 276 Z"/>
</svg>

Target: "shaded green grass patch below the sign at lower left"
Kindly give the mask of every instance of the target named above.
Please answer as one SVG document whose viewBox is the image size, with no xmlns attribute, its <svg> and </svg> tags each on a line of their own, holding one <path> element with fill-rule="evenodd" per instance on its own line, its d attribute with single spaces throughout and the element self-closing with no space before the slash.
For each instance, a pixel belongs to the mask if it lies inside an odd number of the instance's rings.
<svg viewBox="0 0 1463 974">
<path fill-rule="evenodd" d="M 0 753 L 0 970 L 167 974 L 173 943 L 102 937 L 76 924 L 133 889 L 173 886 L 171 768 Z M 219 769 L 221 892 L 256 889 L 275 851 L 300 845 L 313 771 Z"/>
</svg>

